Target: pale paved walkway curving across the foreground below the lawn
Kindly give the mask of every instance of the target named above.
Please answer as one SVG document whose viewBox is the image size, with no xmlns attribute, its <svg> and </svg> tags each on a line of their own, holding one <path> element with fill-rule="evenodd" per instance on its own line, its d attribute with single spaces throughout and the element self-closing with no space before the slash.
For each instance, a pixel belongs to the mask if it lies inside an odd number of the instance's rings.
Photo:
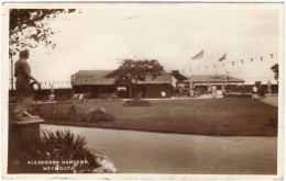
<svg viewBox="0 0 286 181">
<path fill-rule="evenodd" d="M 69 129 L 120 173 L 276 174 L 277 137 L 213 137 L 41 125 Z"/>
</svg>

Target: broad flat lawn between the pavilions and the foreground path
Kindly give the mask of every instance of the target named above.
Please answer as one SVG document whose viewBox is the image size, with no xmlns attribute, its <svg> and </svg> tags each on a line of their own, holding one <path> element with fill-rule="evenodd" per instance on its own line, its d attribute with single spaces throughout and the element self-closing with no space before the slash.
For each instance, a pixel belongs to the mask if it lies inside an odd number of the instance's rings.
<svg viewBox="0 0 286 181">
<path fill-rule="evenodd" d="M 90 108 L 105 108 L 117 121 L 46 120 L 45 123 L 198 135 L 277 135 L 277 127 L 268 125 L 271 120 L 277 118 L 277 108 L 257 100 L 242 98 L 152 100 L 151 104 L 151 106 L 123 106 L 123 101 L 76 103 L 81 111 Z M 70 103 L 41 104 L 41 110 L 50 112 L 53 106 L 67 110 L 70 105 Z"/>
</svg>

